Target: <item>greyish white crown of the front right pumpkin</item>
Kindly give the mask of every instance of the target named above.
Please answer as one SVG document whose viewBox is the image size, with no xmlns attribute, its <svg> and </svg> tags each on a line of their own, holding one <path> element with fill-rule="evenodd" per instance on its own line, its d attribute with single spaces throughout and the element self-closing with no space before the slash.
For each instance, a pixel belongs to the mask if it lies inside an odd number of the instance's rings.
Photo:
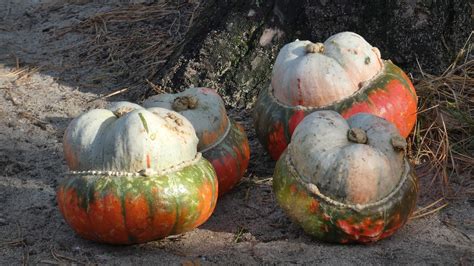
<svg viewBox="0 0 474 266">
<path fill-rule="evenodd" d="M 296 127 L 288 156 L 301 178 L 346 204 L 387 197 L 406 171 L 406 141 L 386 120 L 360 113 L 345 120 L 314 112 Z"/>
</svg>

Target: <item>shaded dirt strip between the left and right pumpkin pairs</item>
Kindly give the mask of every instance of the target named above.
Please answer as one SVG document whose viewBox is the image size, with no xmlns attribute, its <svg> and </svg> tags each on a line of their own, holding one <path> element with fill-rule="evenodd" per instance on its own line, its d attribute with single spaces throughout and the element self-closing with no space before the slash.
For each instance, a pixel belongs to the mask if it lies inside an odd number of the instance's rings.
<svg viewBox="0 0 474 266">
<path fill-rule="evenodd" d="M 232 190 L 221 195 L 216 209 L 200 229 L 234 234 L 234 242 L 295 239 L 304 235 L 278 206 L 272 190 L 273 161 L 257 139 L 249 111 L 229 111 L 245 128 L 250 146 L 247 173 Z M 242 119 L 245 117 L 245 119 Z"/>
</svg>

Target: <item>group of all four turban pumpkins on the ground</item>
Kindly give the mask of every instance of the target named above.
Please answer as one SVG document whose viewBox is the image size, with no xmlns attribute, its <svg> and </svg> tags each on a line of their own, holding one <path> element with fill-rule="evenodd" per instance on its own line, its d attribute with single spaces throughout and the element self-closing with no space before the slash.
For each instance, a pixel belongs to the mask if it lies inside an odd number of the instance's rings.
<svg viewBox="0 0 474 266">
<path fill-rule="evenodd" d="M 278 204 L 321 240 L 392 235 L 417 197 L 405 141 L 416 105 L 405 73 L 355 33 L 285 45 L 254 109 L 257 136 L 278 160 Z M 59 209 L 80 236 L 112 244 L 198 227 L 250 158 L 243 128 L 208 88 L 91 110 L 63 144 L 70 172 Z"/>
</svg>

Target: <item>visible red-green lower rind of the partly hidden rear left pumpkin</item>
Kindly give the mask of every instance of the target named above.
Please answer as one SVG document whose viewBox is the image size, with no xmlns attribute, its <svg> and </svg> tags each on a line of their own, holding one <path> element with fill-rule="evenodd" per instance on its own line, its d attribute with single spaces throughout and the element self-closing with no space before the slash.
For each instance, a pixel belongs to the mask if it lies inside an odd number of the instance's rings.
<svg viewBox="0 0 474 266">
<path fill-rule="evenodd" d="M 214 166 L 219 180 L 219 195 L 231 190 L 244 176 L 249 165 L 250 147 L 244 128 L 230 119 L 225 138 L 203 156 Z"/>
</svg>

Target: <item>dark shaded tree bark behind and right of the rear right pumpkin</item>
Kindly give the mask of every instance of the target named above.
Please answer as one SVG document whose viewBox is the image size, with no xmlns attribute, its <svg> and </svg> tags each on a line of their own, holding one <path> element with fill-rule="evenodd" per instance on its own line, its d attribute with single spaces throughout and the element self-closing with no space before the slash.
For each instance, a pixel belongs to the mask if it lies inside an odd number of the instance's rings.
<svg viewBox="0 0 474 266">
<path fill-rule="evenodd" d="M 357 32 L 410 72 L 445 70 L 473 29 L 467 0 L 306 0 L 305 11 L 311 38 Z"/>
</svg>

